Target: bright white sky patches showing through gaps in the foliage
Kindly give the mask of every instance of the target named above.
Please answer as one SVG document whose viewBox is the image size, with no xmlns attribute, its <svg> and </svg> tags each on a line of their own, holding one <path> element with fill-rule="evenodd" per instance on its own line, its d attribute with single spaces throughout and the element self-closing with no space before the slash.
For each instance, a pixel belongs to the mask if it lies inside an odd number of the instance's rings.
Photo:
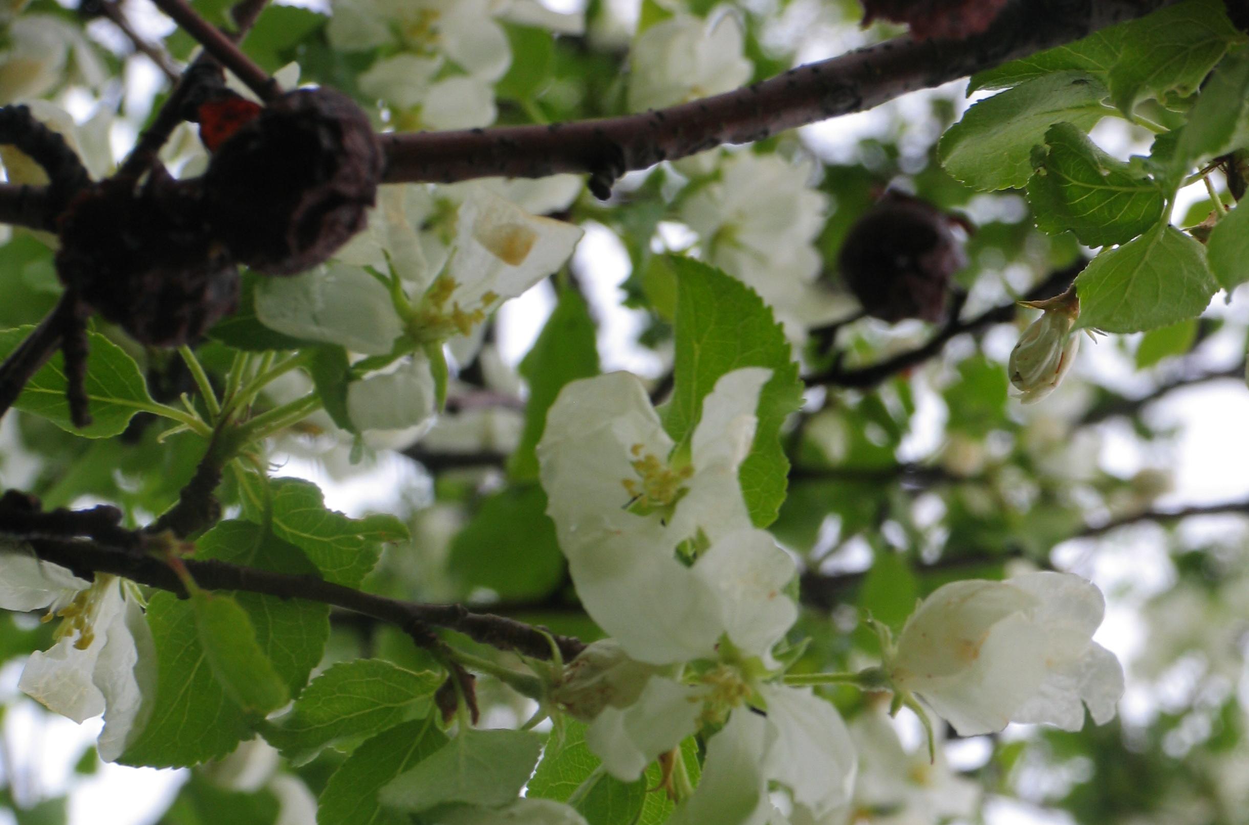
<svg viewBox="0 0 1249 825">
<path fill-rule="evenodd" d="M 545 0 L 547 5 L 560 10 L 570 10 L 581 5 L 580 0 Z M 626 7 L 636 6 L 637 0 L 618 0 Z M 325 10 L 325 2 L 304 0 L 297 5 L 307 5 Z M 862 45 L 864 36 L 854 26 L 833 26 L 803 16 L 802 4 L 796 4 L 793 14 L 778 24 L 778 36 L 786 27 L 811 32 L 807 45 L 801 50 L 801 61 L 819 60 L 848 49 Z M 142 12 L 146 10 L 146 12 Z M 146 4 L 134 2 L 130 6 L 134 22 L 151 35 L 162 35 L 169 30 L 169 21 L 151 11 Z M 136 14 L 137 12 L 137 14 Z M 628 16 L 627 14 L 624 16 Z M 160 79 L 155 70 L 142 60 L 132 61 L 126 75 L 126 84 L 136 97 L 149 96 L 156 91 Z M 919 155 L 936 139 L 937 125 L 928 117 L 927 97 L 940 95 L 965 107 L 963 101 L 964 81 L 947 84 L 931 92 L 908 95 L 886 104 L 869 112 L 839 117 L 826 124 L 818 124 L 802 130 L 808 147 L 822 159 L 831 162 L 857 162 L 857 142 L 863 137 L 887 136 L 902 129 L 899 144 L 903 154 L 908 149 Z M 76 116 L 86 116 L 76 104 L 85 106 L 86 100 L 70 96 L 67 101 Z M 126 115 L 134 120 L 141 119 L 142 107 L 127 109 Z M 135 136 L 132 125 L 119 121 L 112 141 L 115 151 L 129 149 Z M 1142 142 L 1140 135 L 1133 135 L 1119 121 L 1103 121 L 1093 132 L 1094 140 L 1107 151 L 1120 157 L 1133 151 L 1148 149 L 1148 141 Z M 1182 195 L 1182 202 L 1175 210 L 1183 216 L 1192 202 L 1205 197 L 1200 186 L 1190 187 Z M 679 227 L 677 227 L 679 228 Z M 679 232 L 678 232 L 679 233 Z M 641 330 L 641 313 L 620 306 L 621 282 L 629 273 L 628 258 L 620 241 L 601 226 L 588 226 L 585 240 L 577 250 L 577 270 L 582 276 L 582 287 L 600 320 L 598 346 L 605 369 L 631 369 L 644 376 L 656 376 L 662 364 L 656 356 L 636 346 L 636 336 Z M 1215 298 L 1212 315 L 1228 315 L 1240 322 L 1249 320 L 1249 308 L 1244 306 L 1244 296 L 1239 305 L 1223 306 L 1223 297 Z M 527 352 L 553 306 L 553 293 L 550 285 L 538 285 L 525 296 L 506 303 L 498 313 L 498 348 L 503 359 L 515 366 Z M 1004 353 L 1013 344 L 1013 333 L 989 336 L 987 347 L 1004 359 Z M 1203 353 L 1209 356 L 1218 368 L 1237 362 L 1243 353 L 1239 343 L 1230 336 L 1215 336 L 1202 344 Z M 1088 344 L 1080 349 L 1077 369 L 1084 376 L 1107 383 L 1115 388 L 1134 392 L 1147 392 L 1153 386 L 1153 378 L 1135 372 L 1129 359 L 1119 352 L 1113 339 L 1099 344 Z M 931 391 L 918 392 L 921 409 L 911 438 L 904 447 L 906 458 L 924 458 L 939 448 L 940 428 L 944 411 L 933 399 Z M 1055 393 L 1054 402 L 1058 403 Z M 1039 407 L 1043 409 L 1042 402 Z M 1168 456 L 1143 456 L 1137 448 L 1130 432 L 1122 423 L 1107 423 L 1099 429 L 1103 434 L 1099 463 L 1109 472 L 1130 476 L 1144 466 L 1164 467 L 1174 474 L 1174 489 L 1159 499 L 1164 507 L 1185 504 L 1207 504 L 1249 497 L 1249 391 L 1240 381 L 1227 381 L 1202 384 L 1169 394 L 1155 403 L 1149 416 L 1154 423 L 1182 424 L 1182 434 L 1175 442 L 1174 452 Z M 416 471 L 406 459 L 383 459 L 372 476 L 341 483 L 328 477 L 315 462 L 291 459 L 282 469 L 284 474 L 304 476 L 315 481 L 326 493 L 330 507 L 358 514 L 370 509 L 391 509 L 398 504 L 397 489 L 418 481 Z M 1202 519 L 1194 529 L 1223 529 L 1227 522 Z M 1169 584 L 1169 563 L 1160 550 L 1157 530 L 1149 527 L 1123 530 L 1119 535 L 1097 545 L 1090 553 L 1089 542 L 1072 542 L 1058 549 L 1055 560 L 1082 575 L 1092 578 L 1108 594 L 1110 605 L 1107 622 L 1098 640 L 1114 650 L 1120 658 L 1130 658 L 1139 650 L 1143 638 L 1137 605 L 1143 594 L 1157 592 Z M 1117 594 L 1125 594 L 1117 597 Z M 0 669 L 0 699 L 16 695 L 16 681 L 20 663 L 11 663 Z M 1148 695 L 1129 691 L 1128 701 L 1122 713 L 1125 718 L 1144 720 L 1154 713 L 1154 703 Z M 913 720 L 912 720 L 913 721 Z M 904 725 L 904 734 L 914 744 L 918 734 L 913 725 Z M 29 699 L 10 703 L 5 718 L 7 751 L 0 753 L 0 771 L 7 774 L 16 764 L 16 788 L 30 794 L 27 801 L 35 798 L 64 793 L 74 784 L 71 795 L 71 825 L 146 825 L 155 821 L 181 784 L 184 771 L 157 771 L 154 769 L 130 769 L 117 765 L 102 765 L 87 778 L 72 776 L 71 769 L 82 750 L 94 741 L 100 729 L 100 720 L 91 720 L 79 726 L 60 716 L 51 716 L 37 709 Z M 1019 730 L 1018 734 L 1024 734 Z M 1012 731 L 1008 734 L 1014 735 Z M 989 749 L 983 740 L 958 743 L 952 753 L 955 765 L 974 766 L 987 759 Z M 7 815 L 0 813 L 0 825 L 6 825 Z M 987 821 L 990 825 L 1025 825 L 1029 823 L 1067 823 L 1064 815 L 1055 815 L 1027 803 L 1014 800 L 994 800 L 987 809 Z"/>
</svg>

